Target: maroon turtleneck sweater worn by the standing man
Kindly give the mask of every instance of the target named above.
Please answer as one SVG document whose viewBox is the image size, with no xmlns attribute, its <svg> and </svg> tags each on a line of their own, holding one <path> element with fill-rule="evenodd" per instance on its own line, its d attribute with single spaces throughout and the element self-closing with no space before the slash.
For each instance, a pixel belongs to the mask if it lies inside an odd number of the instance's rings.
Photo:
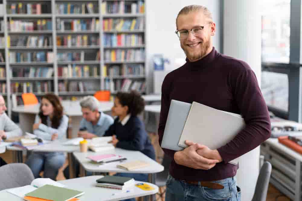
<svg viewBox="0 0 302 201">
<path fill-rule="evenodd" d="M 162 83 L 159 144 L 162 142 L 172 99 L 188 103 L 195 101 L 241 114 L 246 127 L 232 141 L 218 149 L 223 161 L 210 170 L 178 165 L 173 159 L 175 151 L 163 149 L 165 154 L 172 157 L 170 174 L 176 179 L 188 181 L 233 177 L 237 166 L 228 162 L 259 146 L 271 135 L 268 109 L 256 76 L 244 61 L 221 55 L 214 47 L 206 57 L 195 62 L 186 61 L 182 67 L 169 73 Z"/>
</svg>

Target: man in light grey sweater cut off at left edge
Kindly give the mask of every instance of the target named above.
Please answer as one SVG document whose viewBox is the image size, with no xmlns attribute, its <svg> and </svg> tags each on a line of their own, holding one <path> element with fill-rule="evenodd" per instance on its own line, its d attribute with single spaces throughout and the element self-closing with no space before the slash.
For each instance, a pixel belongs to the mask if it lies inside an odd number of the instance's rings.
<svg viewBox="0 0 302 201">
<path fill-rule="evenodd" d="M 3 139 L 22 135 L 22 130 L 6 115 L 6 109 L 4 98 L 0 94 L 0 142 Z M 0 166 L 5 164 L 5 161 L 0 158 Z"/>
</svg>

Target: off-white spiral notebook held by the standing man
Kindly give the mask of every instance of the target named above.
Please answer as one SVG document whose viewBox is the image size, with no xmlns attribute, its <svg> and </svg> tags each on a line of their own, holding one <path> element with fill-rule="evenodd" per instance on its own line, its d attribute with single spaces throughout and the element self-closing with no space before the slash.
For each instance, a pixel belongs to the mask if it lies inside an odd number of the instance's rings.
<svg viewBox="0 0 302 201">
<path fill-rule="evenodd" d="M 245 122 L 238 114 L 193 102 L 178 146 L 186 148 L 185 140 L 190 140 L 217 149 L 229 143 L 244 127 Z"/>
</svg>

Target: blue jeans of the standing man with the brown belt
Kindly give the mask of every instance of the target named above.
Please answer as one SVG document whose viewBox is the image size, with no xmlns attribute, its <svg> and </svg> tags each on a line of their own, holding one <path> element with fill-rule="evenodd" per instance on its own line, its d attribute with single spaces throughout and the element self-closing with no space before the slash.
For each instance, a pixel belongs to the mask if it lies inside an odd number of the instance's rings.
<svg viewBox="0 0 302 201">
<path fill-rule="evenodd" d="M 236 177 L 212 182 L 221 184 L 224 188 L 211 189 L 201 185 L 188 184 L 169 175 L 166 182 L 165 201 L 240 201 L 241 191 L 236 186 Z"/>
</svg>

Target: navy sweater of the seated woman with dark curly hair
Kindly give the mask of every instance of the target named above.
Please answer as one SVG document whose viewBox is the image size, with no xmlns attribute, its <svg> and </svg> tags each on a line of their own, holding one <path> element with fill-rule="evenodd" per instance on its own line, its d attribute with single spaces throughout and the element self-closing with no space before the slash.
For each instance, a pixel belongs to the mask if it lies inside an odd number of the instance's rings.
<svg viewBox="0 0 302 201">
<path fill-rule="evenodd" d="M 117 117 L 114 123 L 105 132 L 104 136 L 116 135 L 119 142 L 116 147 L 140 151 L 155 160 L 155 151 L 146 133 L 143 122 L 137 116 L 130 116 L 123 126 Z"/>
</svg>

